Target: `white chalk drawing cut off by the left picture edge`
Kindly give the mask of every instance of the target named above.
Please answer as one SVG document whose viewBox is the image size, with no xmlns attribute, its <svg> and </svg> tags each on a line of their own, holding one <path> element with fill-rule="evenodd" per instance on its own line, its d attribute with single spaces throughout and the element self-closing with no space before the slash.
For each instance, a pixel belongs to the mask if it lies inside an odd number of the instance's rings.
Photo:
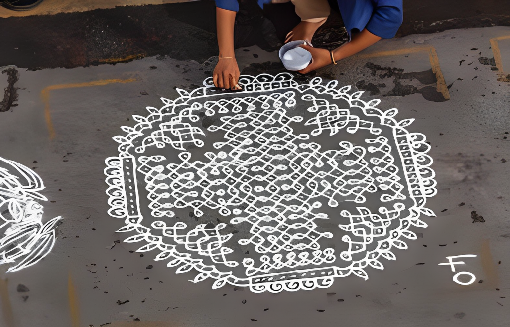
<svg viewBox="0 0 510 327">
<path fill-rule="evenodd" d="M 0 265 L 17 271 L 38 263 L 55 244 L 61 217 L 42 222 L 44 184 L 32 169 L 0 157 Z"/>
</svg>

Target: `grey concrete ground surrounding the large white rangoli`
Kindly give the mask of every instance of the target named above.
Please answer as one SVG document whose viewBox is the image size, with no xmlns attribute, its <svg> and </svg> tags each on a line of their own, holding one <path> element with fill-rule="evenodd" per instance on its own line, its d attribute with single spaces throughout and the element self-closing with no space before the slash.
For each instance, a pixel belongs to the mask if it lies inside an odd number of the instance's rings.
<svg viewBox="0 0 510 327">
<path fill-rule="evenodd" d="M 244 73 L 283 71 L 275 52 L 254 46 L 236 56 Z M 365 90 L 365 98 L 381 98 L 379 107 L 398 108 L 400 119 L 416 118 L 410 130 L 432 146 L 438 194 L 428 207 L 438 217 L 424 218 L 423 237 L 368 281 L 337 280 L 328 289 L 297 293 L 188 282 L 191 273 L 175 274 L 151 255 L 130 253 L 114 233 L 121 221 L 107 214 L 103 169 L 116 154 L 112 136 L 121 125 L 134 125 L 133 114 L 160 106 L 160 97 L 175 98 L 175 87 L 201 85 L 216 60 L 157 56 L 72 69 L 2 68 L 0 87 L 9 95 L 0 112 L 0 155 L 41 176 L 50 201 L 45 217 L 62 215 L 64 224 L 48 257 L 2 281 L 0 325 L 508 324 L 510 28 L 381 41 L 316 72 Z M 473 210 L 485 222 L 473 223 Z M 462 268 L 478 283 L 457 285 L 450 269 L 438 266 L 462 254 L 477 255 Z M 29 291 L 19 291 L 19 284 Z"/>
</svg>

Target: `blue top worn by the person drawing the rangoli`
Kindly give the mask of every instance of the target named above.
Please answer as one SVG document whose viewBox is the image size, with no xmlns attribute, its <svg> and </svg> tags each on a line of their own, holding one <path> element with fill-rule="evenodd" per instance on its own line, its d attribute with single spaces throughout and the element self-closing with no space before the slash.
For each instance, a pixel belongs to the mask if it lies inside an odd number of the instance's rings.
<svg viewBox="0 0 510 327">
<path fill-rule="evenodd" d="M 271 0 L 258 0 L 262 8 Z M 216 0 L 216 7 L 239 11 L 237 0 Z M 345 29 L 351 37 L 353 30 L 363 31 L 383 38 L 395 37 L 402 25 L 402 0 L 338 0 Z"/>
</svg>

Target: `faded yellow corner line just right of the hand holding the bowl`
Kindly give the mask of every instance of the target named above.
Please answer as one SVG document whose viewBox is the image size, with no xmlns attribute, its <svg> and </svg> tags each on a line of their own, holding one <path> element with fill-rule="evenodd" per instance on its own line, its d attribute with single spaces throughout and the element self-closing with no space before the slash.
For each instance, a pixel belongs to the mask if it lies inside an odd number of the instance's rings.
<svg viewBox="0 0 510 327">
<path fill-rule="evenodd" d="M 410 55 L 417 53 L 428 53 L 428 58 L 430 60 L 430 66 L 432 67 L 432 72 L 436 74 L 437 80 L 437 90 L 441 94 L 443 94 L 444 98 L 450 99 L 450 92 L 448 91 L 448 86 L 446 85 L 445 78 L 443 73 L 441 72 L 441 66 L 439 65 L 439 58 L 436 52 L 436 48 L 433 46 L 415 46 L 410 48 L 403 48 L 391 51 L 378 51 L 372 52 L 368 54 L 360 54 L 358 58 L 376 58 L 376 57 L 388 57 L 388 56 L 401 56 L 401 55 Z"/>
</svg>

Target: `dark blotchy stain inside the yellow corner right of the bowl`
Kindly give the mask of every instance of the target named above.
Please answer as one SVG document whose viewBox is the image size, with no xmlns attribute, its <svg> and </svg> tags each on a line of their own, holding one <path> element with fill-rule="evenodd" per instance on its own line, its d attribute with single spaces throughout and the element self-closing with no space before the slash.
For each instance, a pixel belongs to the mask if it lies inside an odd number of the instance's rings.
<svg viewBox="0 0 510 327">
<path fill-rule="evenodd" d="M 444 95 L 436 89 L 437 79 L 432 69 L 424 71 L 404 72 L 402 68 L 382 67 L 374 63 L 367 63 L 365 68 L 370 70 L 370 76 L 379 79 L 393 79 L 395 87 L 390 91 L 382 94 L 382 96 L 404 96 L 414 93 L 420 93 L 423 97 L 433 102 L 446 101 Z M 402 84 L 405 81 L 413 82 L 417 80 L 422 87 L 416 87 L 411 84 Z M 370 95 L 381 93 L 380 88 L 385 88 L 386 83 L 372 83 L 374 81 L 358 81 L 355 83 L 360 90 L 369 91 Z M 417 84 L 415 82 L 415 84 Z"/>
</svg>

